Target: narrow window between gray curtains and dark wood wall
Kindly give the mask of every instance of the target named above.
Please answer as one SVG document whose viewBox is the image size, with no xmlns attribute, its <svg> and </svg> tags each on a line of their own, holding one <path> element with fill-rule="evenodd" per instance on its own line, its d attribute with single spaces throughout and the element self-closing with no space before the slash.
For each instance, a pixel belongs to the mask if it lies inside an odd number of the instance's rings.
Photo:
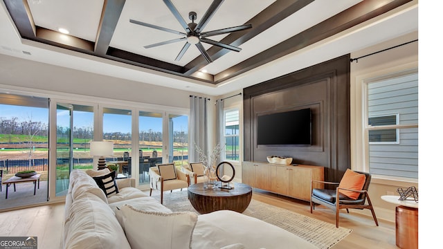
<svg viewBox="0 0 443 249">
<path fill-rule="evenodd" d="M 239 161 L 239 109 L 224 111 L 224 142 L 226 160 Z"/>
</svg>

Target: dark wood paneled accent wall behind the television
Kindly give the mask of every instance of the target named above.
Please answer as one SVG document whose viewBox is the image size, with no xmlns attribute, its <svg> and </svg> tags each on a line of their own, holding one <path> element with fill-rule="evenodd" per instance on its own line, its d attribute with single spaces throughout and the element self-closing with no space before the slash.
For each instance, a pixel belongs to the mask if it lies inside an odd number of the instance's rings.
<svg viewBox="0 0 443 249">
<path fill-rule="evenodd" d="M 244 89 L 244 160 L 287 156 L 325 167 L 326 181 L 350 168 L 350 55 Z M 257 145 L 257 116 L 309 107 L 312 145 Z M 296 122 L 296 120 L 294 120 Z"/>
</svg>

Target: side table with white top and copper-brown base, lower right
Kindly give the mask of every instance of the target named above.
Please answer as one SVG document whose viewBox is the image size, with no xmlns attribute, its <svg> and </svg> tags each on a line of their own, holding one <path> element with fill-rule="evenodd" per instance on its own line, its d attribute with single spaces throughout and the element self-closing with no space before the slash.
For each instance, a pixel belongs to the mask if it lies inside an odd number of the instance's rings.
<svg viewBox="0 0 443 249">
<path fill-rule="evenodd" d="M 381 196 L 383 201 L 394 203 L 395 245 L 402 249 L 418 248 L 418 203 L 414 200 L 400 201 L 400 196 Z"/>
</svg>

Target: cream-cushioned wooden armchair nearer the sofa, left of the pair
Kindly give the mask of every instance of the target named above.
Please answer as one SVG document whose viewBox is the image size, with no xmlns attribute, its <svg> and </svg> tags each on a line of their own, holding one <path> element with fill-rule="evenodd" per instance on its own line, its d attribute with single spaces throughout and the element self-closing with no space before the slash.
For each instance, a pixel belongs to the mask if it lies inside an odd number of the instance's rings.
<svg viewBox="0 0 443 249">
<path fill-rule="evenodd" d="M 150 167 L 150 196 L 152 190 L 160 190 L 160 203 L 163 204 L 163 192 L 189 187 L 189 175 L 177 170 L 174 163 L 159 164 Z"/>
</svg>

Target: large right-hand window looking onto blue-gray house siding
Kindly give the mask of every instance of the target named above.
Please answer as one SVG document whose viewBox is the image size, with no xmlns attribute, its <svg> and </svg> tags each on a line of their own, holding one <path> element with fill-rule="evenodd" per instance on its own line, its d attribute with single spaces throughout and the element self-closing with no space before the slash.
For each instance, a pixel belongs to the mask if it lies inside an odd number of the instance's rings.
<svg viewBox="0 0 443 249">
<path fill-rule="evenodd" d="M 397 73 L 365 86 L 369 172 L 418 178 L 418 73 Z"/>
</svg>

